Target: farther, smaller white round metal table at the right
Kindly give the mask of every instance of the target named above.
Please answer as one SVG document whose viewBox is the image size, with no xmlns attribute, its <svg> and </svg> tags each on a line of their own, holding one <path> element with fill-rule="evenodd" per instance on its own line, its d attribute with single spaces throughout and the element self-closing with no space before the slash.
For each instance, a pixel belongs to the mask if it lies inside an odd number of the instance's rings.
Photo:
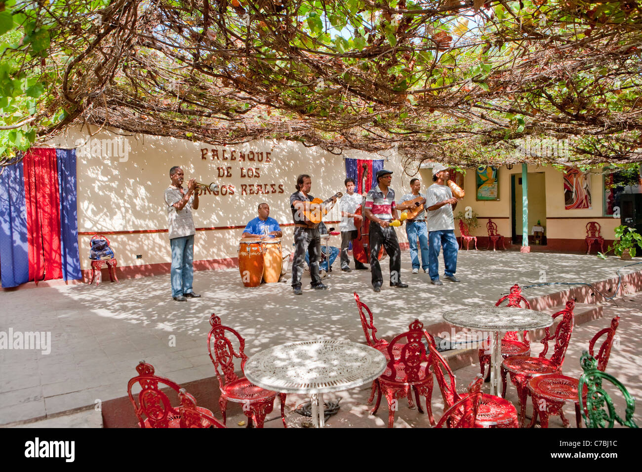
<svg viewBox="0 0 642 472">
<path fill-rule="evenodd" d="M 476 337 L 485 340 L 490 336 L 490 394 L 499 393 L 499 369 L 501 367 L 501 338 L 507 331 L 531 331 L 547 328 L 553 317 L 542 311 L 507 306 L 473 306 L 444 313 L 444 320 L 453 326 L 482 331 Z"/>
</svg>

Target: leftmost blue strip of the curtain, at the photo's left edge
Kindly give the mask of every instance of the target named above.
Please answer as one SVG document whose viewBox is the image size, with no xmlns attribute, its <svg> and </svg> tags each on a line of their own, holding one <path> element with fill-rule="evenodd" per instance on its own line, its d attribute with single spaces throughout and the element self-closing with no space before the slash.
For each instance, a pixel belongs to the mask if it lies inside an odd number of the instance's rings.
<svg viewBox="0 0 642 472">
<path fill-rule="evenodd" d="M 29 281 L 27 208 L 22 162 L 0 174 L 0 273 L 3 287 Z"/>
</svg>

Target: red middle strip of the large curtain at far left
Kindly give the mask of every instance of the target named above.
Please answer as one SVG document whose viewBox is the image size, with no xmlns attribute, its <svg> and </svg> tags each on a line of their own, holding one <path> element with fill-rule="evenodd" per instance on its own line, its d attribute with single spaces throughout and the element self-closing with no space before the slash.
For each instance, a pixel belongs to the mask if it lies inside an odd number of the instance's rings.
<svg viewBox="0 0 642 472">
<path fill-rule="evenodd" d="M 27 204 L 29 280 L 62 279 L 56 150 L 31 149 L 22 162 Z"/>
</svg>

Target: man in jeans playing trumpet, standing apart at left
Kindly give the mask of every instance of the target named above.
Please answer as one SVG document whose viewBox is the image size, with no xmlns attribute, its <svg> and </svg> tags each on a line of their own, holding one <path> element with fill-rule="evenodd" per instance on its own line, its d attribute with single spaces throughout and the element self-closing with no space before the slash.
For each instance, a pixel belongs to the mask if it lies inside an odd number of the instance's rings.
<svg viewBox="0 0 642 472">
<path fill-rule="evenodd" d="M 183 170 L 179 166 L 169 169 L 171 185 L 165 189 L 165 205 L 168 213 L 169 245 L 171 247 L 171 296 L 177 302 L 187 298 L 199 298 L 194 293 L 194 218 L 192 210 L 198 209 L 196 179 L 183 188 Z"/>
</svg>

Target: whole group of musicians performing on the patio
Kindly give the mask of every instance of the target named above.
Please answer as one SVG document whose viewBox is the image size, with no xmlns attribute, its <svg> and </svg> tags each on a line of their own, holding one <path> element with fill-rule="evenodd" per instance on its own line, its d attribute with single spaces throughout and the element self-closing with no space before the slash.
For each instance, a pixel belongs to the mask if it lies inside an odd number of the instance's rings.
<svg viewBox="0 0 642 472">
<path fill-rule="evenodd" d="M 410 180 L 410 193 L 395 202 L 395 191 L 390 188 L 392 171 L 380 170 L 376 173 L 377 184 L 365 195 L 354 193 L 355 182 L 345 179 L 345 195 L 341 192 L 322 201 L 310 195 L 312 180 L 309 175 L 297 177 L 296 191 L 290 195 L 290 210 L 294 229 L 294 258 L 292 263 L 291 286 L 295 295 L 301 295 L 301 278 L 304 263 L 309 260 L 311 288 L 328 290 L 320 273 L 322 258 L 320 227 L 325 229 L 322 217 L 330 211 L 338 198 L 342 198 L 341 211 L 341 249 L 340 261 L 343 272 L 352 272 L 349 267 L 348 250 L 352 243 L 352 258 L 356 270 L 367 270 L 370 264 L 372 288 L 381 292 L 383 274 L 379 259 L 385 249 L 390 258 L 390 286 L 406 288 L 401 281 L 401 250 L 395 227 L 405 221 L 406 234 L 410 242 L 412 274 L 421 268 L 430 275 L 431 284 L 442 285 L 439 276 L 438 256 L 444 248 L 444 280 L 459 282 L 455 276 L 458 244 L 455 237 L 453 210 L 457 197 L 463 197 L 462 189 L 449 180 L 445 166 L 437 164 L 433 168 L 433 184 L 424 195 L 421 193 L 421 180 Z M 189 181 L 187 191 L 182 188 L 183 173 L 178 167 L 170 170 L 172 184 L 165 191 L 165 201 L 169 218 L 169 237 L 172 248 L 171 286 L 172 296 L 177 301 L 187 297 L 200 297 L 193 293 L 193 238 L 195 228 L 191 210 L 198 207 L 198 188 L 194 179 Z M 399 211 L 403 212 L 401 215 Z M 327 232 L 325 230 L 324 232 Z M 180 240 L 174 241 L 175 238 Z M 286 281 L 290 251 L 281 245 L 282 231 L 279 223 L 270 218 L 270 207 L 261 203 L 258 216 L 243 231 L 239 244 L 239 271 L 245 286 L 259 286 L 262 282 Z M 185 241 L 184 241 L 185 240 Z M 417 244 L 419 242 L 419 245 Z M 419 246 L 419 248 L 418 248 Z M 327 271 L 331 270 L 336 248 L 326 251 Z M 306 257 L 307 256 L 307 257 Z"/>
</svg>

